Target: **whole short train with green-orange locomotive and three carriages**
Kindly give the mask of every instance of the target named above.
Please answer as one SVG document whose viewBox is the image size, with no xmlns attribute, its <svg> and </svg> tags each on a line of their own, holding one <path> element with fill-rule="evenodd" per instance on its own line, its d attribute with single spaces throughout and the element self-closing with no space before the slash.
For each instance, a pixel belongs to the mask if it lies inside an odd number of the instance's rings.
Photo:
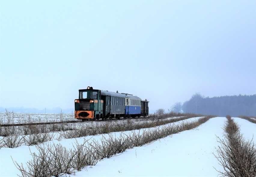
<svg viewBox="0 0 256 177">
<path fill-rule="evenodd" d="M 148 102 L 127 93 L 95 90 L 93 87 L 79 90 L 75 100 L 75 118 L 96 120 L 107 118 L 135 118 L 148 115 Z"/>
</svg>

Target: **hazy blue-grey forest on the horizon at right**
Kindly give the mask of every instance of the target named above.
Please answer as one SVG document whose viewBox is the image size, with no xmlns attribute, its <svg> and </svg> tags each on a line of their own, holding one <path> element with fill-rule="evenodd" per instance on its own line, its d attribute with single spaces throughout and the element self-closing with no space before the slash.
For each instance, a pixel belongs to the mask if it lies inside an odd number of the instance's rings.
<svg viewBox="0 0 256 177">
<path fill-rule="evenodd" d="M 183 103 L 182 110 L 204 115 L 256 116 L 256 94 L 209 98 L 195 93 Z"/>
</svg>

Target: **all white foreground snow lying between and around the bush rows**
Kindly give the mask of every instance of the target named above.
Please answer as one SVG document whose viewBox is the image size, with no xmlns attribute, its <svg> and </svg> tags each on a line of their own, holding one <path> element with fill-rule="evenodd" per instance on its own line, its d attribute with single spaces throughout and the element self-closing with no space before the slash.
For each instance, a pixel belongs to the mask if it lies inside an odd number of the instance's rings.
<svg viewBox="0 0 256 177">
<path fill-rule="evenodd" d="M 190 118 L 186 121 L 195 120 Z M 234 118 L 240 125 L 241 133 L 246 139 L 256 134 L 256 124 L 241 118 Z M 223 136 L 223 126 L 226 118 L 211 118 L 199 127 L 159 139 L 142 147 L 127 149 L 109 159 L 99 161 L 95 166 L 89 166 L 77 172 L 78 176 L 218 176 L 217 170 L 222 170 L 213 153 L 218 147 L 216 136 Z M 176 122 L 178 123 L 178 122 Z M 129 133 L 129 131 L 125 132 Z M 117 137 L 120 132 L 112 133 Z M 96 135 L 82 138 L 63 139 L 50 143 L 62 144 L 72 148 L 72 143 L 82 143 L 84 139 L 99 140 Z M 2 137 L 1 137 L 2 138 Z M 48 143 L 48 142 L 47 142 Z M 47 144 L 45 143 L 45 144 Z M 254 143 L 256 141 L 254 140 Z M 21 146 L 18 148 L 0 149 L 0 176 L 21 175 L 15 167 L 14 161 L 26 164 L 31 159 L 30 151 L 35 152 L 35 146 Z M 12 158 L 11 158 L 12 157 Z"/>
</svg>

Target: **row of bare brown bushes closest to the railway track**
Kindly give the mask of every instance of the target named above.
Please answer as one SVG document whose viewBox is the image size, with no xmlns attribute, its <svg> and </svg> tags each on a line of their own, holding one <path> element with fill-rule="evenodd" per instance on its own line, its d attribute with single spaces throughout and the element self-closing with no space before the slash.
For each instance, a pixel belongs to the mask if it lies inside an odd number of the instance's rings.
<svg viewBox="0 0 256 177">
<path fill-rule="evenodd" d="M 58 133 L 47 133 L 45 126 L 43 125 L 31 125 L 31 126 L 11 126 L 2 127 L 1 131 L 6 136 L 0 139 L 0 148 L 9 147 L 16 148 L 21 145 L 35 145 L 47 141 L 52 141 L 53 139 L 61 140 L 63 138 L 78 138 L 88 135 L 98 135 L 110 132 L 122 132 L 142 128 L 150 128 L 155 126 L 164 125 L 167 123 L 176 122 L 179 120 L 185 120 L 190 118 L 190 116 L 178 117 L 178 118 L 167 118 L 167 119 L 139 119 L 139 120 L 123 120 L 123 121 L 104 121 L 104 122 L 90 122 L 90 123 L 80 123 L 79 125 L 73 124 L 56 124 L 56 126 L 62 126 L 62 131 Z M 195 115 L 193 115 L 195 116 Z M 54 126 L 51 124 L 48 126 Z M 65 126 L 65 127 L 64 127 Z M 44 127 L 44 128 L 43 128 Z M 29 135 L 24 135 L 29 128 Z M 43 130 L 43 131 L 42 131 Z"/>
</svg>

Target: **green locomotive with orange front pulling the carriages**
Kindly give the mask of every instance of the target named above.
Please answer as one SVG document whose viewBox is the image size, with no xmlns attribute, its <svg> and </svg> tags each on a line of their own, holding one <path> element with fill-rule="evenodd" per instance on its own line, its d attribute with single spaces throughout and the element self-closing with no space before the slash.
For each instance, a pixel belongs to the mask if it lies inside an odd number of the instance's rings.
<svg viewBox="0 0 256 177">
<path fill-rule="evenodd" d="M 103 115 L 101 91 L 92 87 L 79 90 L 79 98 L 75 100 L 75 118 L 81 120 L 99 119 Z"/>
</svg>

